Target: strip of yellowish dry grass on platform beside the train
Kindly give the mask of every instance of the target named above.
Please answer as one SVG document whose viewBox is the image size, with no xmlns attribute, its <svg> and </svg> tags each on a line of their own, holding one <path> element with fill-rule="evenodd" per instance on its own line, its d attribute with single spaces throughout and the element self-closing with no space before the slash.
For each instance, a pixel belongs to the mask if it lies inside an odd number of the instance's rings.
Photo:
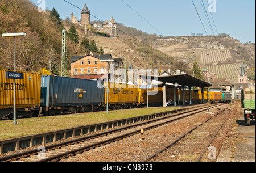
<svg viewBox="0 0 256 173">
<path fill-rule="evenodd" d="M 177 107 L 123 109 L 110 111 L 108 115 L 106 112 L 93 112 L 61 116 L 36 117 L 31 119 L 19 119 L 18 125 L 13 125 L 12 120 L 4 120 L 0 121 L 0 140 L 30 136 L 38 133 L 47 133 L 55 130 L 74 128 L 89 124 L 104 123 L 107 121 L 126 119 L 129 117 L 148 115 L 151 113 L 171 111 L 173 109 L 177 109 Z"/>
</svg>

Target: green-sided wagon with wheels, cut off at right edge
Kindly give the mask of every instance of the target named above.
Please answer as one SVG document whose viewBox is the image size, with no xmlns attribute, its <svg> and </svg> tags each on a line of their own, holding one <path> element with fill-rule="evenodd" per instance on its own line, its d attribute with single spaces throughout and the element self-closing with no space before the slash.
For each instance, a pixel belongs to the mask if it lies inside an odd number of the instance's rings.
<svg viewBox="0 0 256 173">
<path fill-rule="evenodd" d="M 242 90 L 241 104 L 244 109 L 245 123 L 250 126 L 251 119 L 255 119 L 255 88 Z"/>
</svg>

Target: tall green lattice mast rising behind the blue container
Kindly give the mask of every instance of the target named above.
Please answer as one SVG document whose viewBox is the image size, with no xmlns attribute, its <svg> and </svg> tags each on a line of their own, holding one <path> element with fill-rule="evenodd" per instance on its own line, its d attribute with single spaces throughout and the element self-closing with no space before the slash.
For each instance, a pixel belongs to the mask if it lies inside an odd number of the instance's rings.
<svg viewBox="0 0 256 173">
<path fill-rule="evenodd" d="M 68 76 L 68 62 L 67 62 L 67 44 L 66 44 L 66 30 L 62 30 L 62 54 L 61 54 L 61 76 Z"/>
</svg>

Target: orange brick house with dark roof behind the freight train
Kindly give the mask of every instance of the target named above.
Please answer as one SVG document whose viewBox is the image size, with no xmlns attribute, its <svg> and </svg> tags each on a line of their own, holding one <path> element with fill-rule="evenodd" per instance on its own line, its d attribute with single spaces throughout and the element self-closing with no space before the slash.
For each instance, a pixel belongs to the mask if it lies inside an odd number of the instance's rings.
<svg viewBox="0 0 256 173">
<path fill-rule="evenodd" d="M 113 60 L 111 62 L 101 60 Z M 110 65 L 114 65 L 114 77 L 115 81 L 110 82 L 123 82 L 119 79 L 119 73 L 117 69 L 123 69 L 122 58 L 112 58 L 111 54 L 103 55 L 90 55 L 85 56 L 72 56 L 71 60 L 71 74 L 74 78 L 80 79 L 99 79 L 106 73 L 106 70 L 110 71 Z M 110 73 L 109 73 L 110 74 Z M 119 80 L 119 81 L 118 81 Z"/>
</svg>

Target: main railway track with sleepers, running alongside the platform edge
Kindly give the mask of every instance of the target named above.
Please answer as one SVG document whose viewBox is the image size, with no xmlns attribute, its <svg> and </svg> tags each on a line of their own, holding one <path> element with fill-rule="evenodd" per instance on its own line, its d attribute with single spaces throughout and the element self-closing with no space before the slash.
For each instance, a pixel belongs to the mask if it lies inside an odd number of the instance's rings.
<svg viewBox="0 0 256 173">
<path fill-rule="evenodd" d="M 215 108 L 222 106 L 223 104 L 217 104 L 210 106 L 209 108 Z M 126 126 L 123 128 L 110 130 L 108 132 L 94 134 L 77 140 L 63 142 L 47 147 L 39 147 L 38 150 L 26 151 L 24 153 L 9 155 L 7 157 L 0 158 L 0 162 L 11 161 L 23 161 L 23 162 L 49 162 L 49 161 L 61 161 L 61 159 L 69 158 L 76 154 L 84 153 L 97 147 L 110 144 L 112 142 L 121 140 L 129 136 L 141 133 L 141 129 L 150 130 L 164 124 L 171 123 L 184 119 L 185 117 L 195 115 L 196 113 L 207 111 L 208 107 L 197 108 L 192 111 L 176 113 L 175 115 L 161 117 L 154 120 L 149 120 L 143 123 Z"/>
</svg>

